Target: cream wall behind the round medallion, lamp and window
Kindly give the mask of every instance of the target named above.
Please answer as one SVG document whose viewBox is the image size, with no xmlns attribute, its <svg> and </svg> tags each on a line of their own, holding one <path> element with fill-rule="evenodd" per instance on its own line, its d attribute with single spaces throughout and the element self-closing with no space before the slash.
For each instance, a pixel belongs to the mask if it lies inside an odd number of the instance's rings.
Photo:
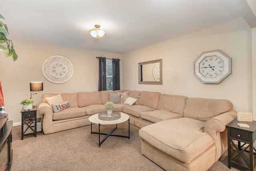
<svg viewBox="0 0 256 171">
<path fill-rule="evenodd" d="M 119 58 L 122 62 L 122 56 L 119 54 L 11 39 L 18 54 L 18 60 L 13 62 L 12 57 L 5 58 L 5 53 L 0 54 L 0 80 L 5 109 L 14 125 L 21 124 L 22 105 L 20 105 L 20 101 L 30 98 L 30 82 L 44 83 L 44 90 L 33 95 L 34 105 L 39 105 L 42 102 L 43 93 L 98 91 L 98 60 L 96 56 Z M 49 82 L 42 74 L 44 60 L 57 54 L 68 58 L 74 66 L 73 77 L 64 84 Z M 120 79 L 122 80 L 122 63 L 120 70 Z M 39 113 L 38 117 L 41 117 Z"/>
</svg>

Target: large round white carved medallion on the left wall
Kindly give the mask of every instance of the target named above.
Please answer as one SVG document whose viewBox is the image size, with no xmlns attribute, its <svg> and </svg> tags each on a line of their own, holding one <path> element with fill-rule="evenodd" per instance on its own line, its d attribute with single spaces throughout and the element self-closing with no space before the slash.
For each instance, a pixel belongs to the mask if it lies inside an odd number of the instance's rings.
<svg viewBox="0 0 256 171">
<path fill-rule="evenodd" d="M 68 58 L 61 55 L 53 55 L 42 64 L 42 73 L 48 81 L 62 84 L 72 78 L 74 67 Z"/>
</svg>

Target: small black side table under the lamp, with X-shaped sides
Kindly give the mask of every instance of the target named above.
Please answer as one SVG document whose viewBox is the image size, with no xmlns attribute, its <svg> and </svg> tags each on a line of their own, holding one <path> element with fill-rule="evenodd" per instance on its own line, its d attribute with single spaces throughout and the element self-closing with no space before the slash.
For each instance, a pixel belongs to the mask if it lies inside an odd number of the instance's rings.
<svg viewBox="0 0 256 171">
<path fill-rule="evenodd" d="M 21 112 L 21 139 L 25 135 L 33 135 L 36 137 L 36 111 L 37 106 L 33 107 L 30 110 L 24 110 L 22 108 Z"/>
</svg>

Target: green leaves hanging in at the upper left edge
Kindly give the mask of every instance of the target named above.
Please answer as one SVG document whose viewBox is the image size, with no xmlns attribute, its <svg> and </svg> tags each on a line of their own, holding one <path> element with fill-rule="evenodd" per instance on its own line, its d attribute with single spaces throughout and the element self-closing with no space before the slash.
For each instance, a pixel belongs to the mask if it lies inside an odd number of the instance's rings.
<svg viewBox="0 0 256 171">
<path fill-rule="evenodd" d="M 5 19 L 1 14 L 0 18 Z M 7 58 L 9 56 L 12 56 L 13 61 L 16 61 L 18 59 L 18 55 L 13 48 L 12 40 L 9 40 L 6 37 L 8 36 L 8 34 L 9 32 L 7 25 L 0 21 L 0 50 L 7 50 L 5 57 Z M 7 48 L 5 46 L 2 46 L 2 43 L 6 43 Z"/>
</svg>

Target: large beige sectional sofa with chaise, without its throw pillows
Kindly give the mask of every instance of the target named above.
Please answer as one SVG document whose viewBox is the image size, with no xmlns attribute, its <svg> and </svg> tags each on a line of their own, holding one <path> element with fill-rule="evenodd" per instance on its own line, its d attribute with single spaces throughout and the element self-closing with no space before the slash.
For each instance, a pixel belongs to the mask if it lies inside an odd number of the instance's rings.
<svg viewBox="0 0 256 171">
<path fill-rule="evenodd" d="M 225 125 L 237 117 L 228 100 L 188 98 L 150 91 L 95 91 L 60 94 L 70 107 L 54 113 L 43 94 L 39 112 L 45 134 L 90 125 L 88 117 L 106 111 L 109 93 L 128 92 L 134 105 L 115 104 L 139 128 L 141 153 L 165 170 L 206 171 L 227 149 Z"/>
</svg>

